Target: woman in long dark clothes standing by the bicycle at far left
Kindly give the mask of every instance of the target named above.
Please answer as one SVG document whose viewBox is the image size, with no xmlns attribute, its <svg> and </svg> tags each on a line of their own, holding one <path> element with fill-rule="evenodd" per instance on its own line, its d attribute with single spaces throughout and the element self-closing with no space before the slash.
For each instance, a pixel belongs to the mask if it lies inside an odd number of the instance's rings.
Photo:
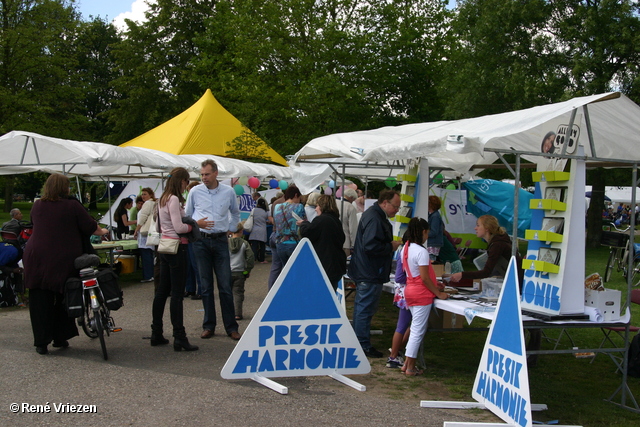
<svg viewBox="0 0 640 427">
<path fill-rule="evenodd" d="M 29 289 L 33 345 L 39 354 L 49 352 L 51 341 L 54 347 L 69 347 L 67 340 L 78 335 L 64 307 L 64 284 L 69 277 L 78 277 L 74 261 L 90 247 L 91 234 L 107 233 L 70 197 L 69 186 L 69 178 L 52 174 L 31 210 L 33 234 L 24 251 L 24 284 Z"/>
</svg>

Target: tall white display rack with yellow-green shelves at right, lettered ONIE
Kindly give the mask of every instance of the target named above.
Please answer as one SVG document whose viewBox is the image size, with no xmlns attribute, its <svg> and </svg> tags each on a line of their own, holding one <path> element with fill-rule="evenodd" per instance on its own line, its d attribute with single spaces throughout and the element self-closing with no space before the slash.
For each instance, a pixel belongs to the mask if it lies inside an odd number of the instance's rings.
<svg viewBox="0 0 640 427">
<path fill-rule="evenodd" d="M 585 170 L 583 160 L 545 159 L 532 175 L 536 190 L 522 261 L 522 308 L 528 312 L 584 313 Z"/>
</svg>

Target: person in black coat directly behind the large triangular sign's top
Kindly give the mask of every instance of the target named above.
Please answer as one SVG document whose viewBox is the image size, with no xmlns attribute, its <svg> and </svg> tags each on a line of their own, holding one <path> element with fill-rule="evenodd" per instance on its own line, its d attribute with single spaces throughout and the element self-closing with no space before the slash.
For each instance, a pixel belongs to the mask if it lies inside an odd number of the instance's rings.
<svg viewBox="0 0 640 427">
<path fill-rule="evenodd" d="M 312 222 L 298 221 L 300 234 L 313 244 L 331 286 L 336 290 L 347 271 L 347 256 L 342 249 L 345 235 L 335 199 L 327 195 L 320 196 L 316 212 L 318 215 Z"/>
</svg>

